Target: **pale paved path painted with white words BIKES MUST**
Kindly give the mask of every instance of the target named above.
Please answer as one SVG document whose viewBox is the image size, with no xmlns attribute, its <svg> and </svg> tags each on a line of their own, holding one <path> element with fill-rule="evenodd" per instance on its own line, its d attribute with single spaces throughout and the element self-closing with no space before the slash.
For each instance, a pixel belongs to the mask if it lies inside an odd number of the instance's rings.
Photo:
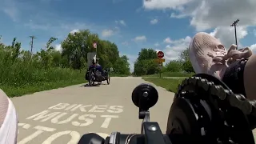
<svg viewBox="0 0 256 144">
<path fill-rule="evenodd" d="M 11 98 L 19 117 L 18 144 L 76 144 L 90 132 L 105 138 L 113 131 L 139 134 L 142 120 L 131 93 L 141 83 L 149 82 L 116 77 L 110 85 L 85 83 Z M 158 122 L 164 133 L 174 93 L 155 88 L 159 99 L 150 109 L 150 121 Z"/>
</svg>

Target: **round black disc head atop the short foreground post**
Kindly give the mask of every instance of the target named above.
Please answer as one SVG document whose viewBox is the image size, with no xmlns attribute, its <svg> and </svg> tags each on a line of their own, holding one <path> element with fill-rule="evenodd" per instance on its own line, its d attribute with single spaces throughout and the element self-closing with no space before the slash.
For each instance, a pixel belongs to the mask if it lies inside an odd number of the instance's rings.
<svg viewBox="0 0 256 144">
<path fill-rule="evenodd" d="M 158 90 L 150 84 L 142 83 L 135 87 L 131 98 L 135 106 L 148 110 L 158 102 Z"/>
</svg>

